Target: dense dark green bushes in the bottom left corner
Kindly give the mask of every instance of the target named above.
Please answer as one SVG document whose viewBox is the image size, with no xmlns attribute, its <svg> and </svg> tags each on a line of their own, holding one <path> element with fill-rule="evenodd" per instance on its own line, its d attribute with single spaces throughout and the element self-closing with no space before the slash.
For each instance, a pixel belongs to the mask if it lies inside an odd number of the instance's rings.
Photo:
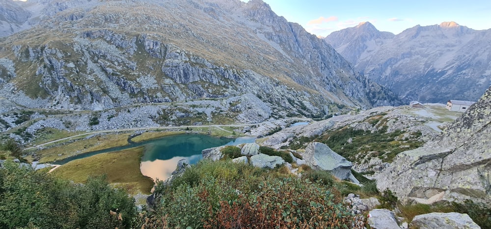
<svg viewBox="0 0 491 229">
<path fill-rule="evenodd" d="M 134 218 L 133 198 L 104 177 L 79 185 L 8 160 L 0 169 L 0 228 L 131 228 Z"/>
</svg>

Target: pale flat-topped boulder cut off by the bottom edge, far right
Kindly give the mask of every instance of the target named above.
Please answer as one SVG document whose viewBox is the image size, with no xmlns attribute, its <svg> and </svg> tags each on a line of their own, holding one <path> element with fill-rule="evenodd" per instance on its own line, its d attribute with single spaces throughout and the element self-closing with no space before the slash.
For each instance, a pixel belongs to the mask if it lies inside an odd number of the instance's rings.
<svg viewBox="0 0 491 229">
<path fill-rule="evenodd" d="M 417 215 L 412 219 L 411 228 L 418 229 L 480 229 L 479 225 L 474 223 L 467 214 L 457 212 L 440 213 L 434 212 L 429 214 Z"/>
</svg>

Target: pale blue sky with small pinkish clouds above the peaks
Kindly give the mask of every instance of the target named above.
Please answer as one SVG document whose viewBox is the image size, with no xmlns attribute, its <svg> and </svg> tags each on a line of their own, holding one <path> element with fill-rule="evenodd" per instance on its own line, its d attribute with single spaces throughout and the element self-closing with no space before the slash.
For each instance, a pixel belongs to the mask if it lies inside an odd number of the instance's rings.
<svg viewBox="0 0 491 229">
<path fill-rule="evenodd" d="M 242 0 L 248 1 L 248 0 Z M 491 0 L 263 0 L 278 15 L 325 37 L 333 31 L 370 22 L 398 34 L 415 25 L 456 22 L 491 28 Z"/>
</svg>

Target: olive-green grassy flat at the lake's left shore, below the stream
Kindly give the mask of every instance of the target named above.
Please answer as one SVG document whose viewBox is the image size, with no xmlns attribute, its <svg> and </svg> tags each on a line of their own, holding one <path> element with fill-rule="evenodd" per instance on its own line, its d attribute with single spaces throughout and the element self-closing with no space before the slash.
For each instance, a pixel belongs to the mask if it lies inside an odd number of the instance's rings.
<svg viewBox="0 0 491 229">
<path fill-rule="evenodd" d="M 140 172 L 143 150 L 143 147 L 137 147 L 73 160 L 55 169 L 53 174 L 76 183 L 85 183 L 89 176 L 106 174 L 110 184 L 129 193 L 150 194 L 153 180 Z"/>
</svg>

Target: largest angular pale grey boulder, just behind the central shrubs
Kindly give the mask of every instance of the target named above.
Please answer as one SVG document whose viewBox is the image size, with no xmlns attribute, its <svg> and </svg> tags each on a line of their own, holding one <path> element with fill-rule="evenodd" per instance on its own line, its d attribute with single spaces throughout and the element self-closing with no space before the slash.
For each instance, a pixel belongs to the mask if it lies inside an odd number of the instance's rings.
<svg viewBox="0 0 491 229">
<path fill-rule="evenodd" d="M 351 173 L 353 164 L 343 156 L 332 151 L 328 146 L 319 142 L 312 142 L 302 154 L 305 164 L 314 169 L 329 171 L 334 177 L 342 180 L 359 181 Z"/>
</svg>

